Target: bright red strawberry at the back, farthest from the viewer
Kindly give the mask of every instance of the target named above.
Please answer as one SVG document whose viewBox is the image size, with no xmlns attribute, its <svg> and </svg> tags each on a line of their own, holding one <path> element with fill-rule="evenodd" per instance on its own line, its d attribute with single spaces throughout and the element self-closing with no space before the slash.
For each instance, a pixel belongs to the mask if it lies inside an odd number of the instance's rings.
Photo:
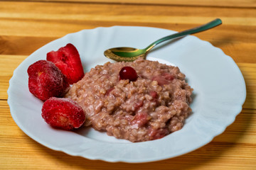
<svg viewBox="0 0 256 170">
<path fill-rule="evenodd" d="M 47 60 L 53 62 L 65 74 L 69 84 L 76 83 L 84 76 L 78 50 L 70 43 L 60 47 L 58 51 L 48 52 Z"/>
</svg>

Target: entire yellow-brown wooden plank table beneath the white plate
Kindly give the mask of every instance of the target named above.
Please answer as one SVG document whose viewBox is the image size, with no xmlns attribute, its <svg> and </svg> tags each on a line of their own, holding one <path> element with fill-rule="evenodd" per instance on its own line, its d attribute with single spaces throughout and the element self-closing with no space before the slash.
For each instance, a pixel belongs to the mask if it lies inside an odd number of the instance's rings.
<svg viewBox="0 0 256 170">
<path fill-rule="evenodd" d="M 223 25 L 196 36 L 235 60 L 247 98 L 235 122 L 196 151 L 144 164 L 92 161 L 38 144 L 11 118 L 6 91 L 14 69 L 52 40 L 100 26 L 185 30 L 214 18 Z M 0 1 L 0 169 L 256 169 L 255 55 L 255 0 Z"/>
</svg>

